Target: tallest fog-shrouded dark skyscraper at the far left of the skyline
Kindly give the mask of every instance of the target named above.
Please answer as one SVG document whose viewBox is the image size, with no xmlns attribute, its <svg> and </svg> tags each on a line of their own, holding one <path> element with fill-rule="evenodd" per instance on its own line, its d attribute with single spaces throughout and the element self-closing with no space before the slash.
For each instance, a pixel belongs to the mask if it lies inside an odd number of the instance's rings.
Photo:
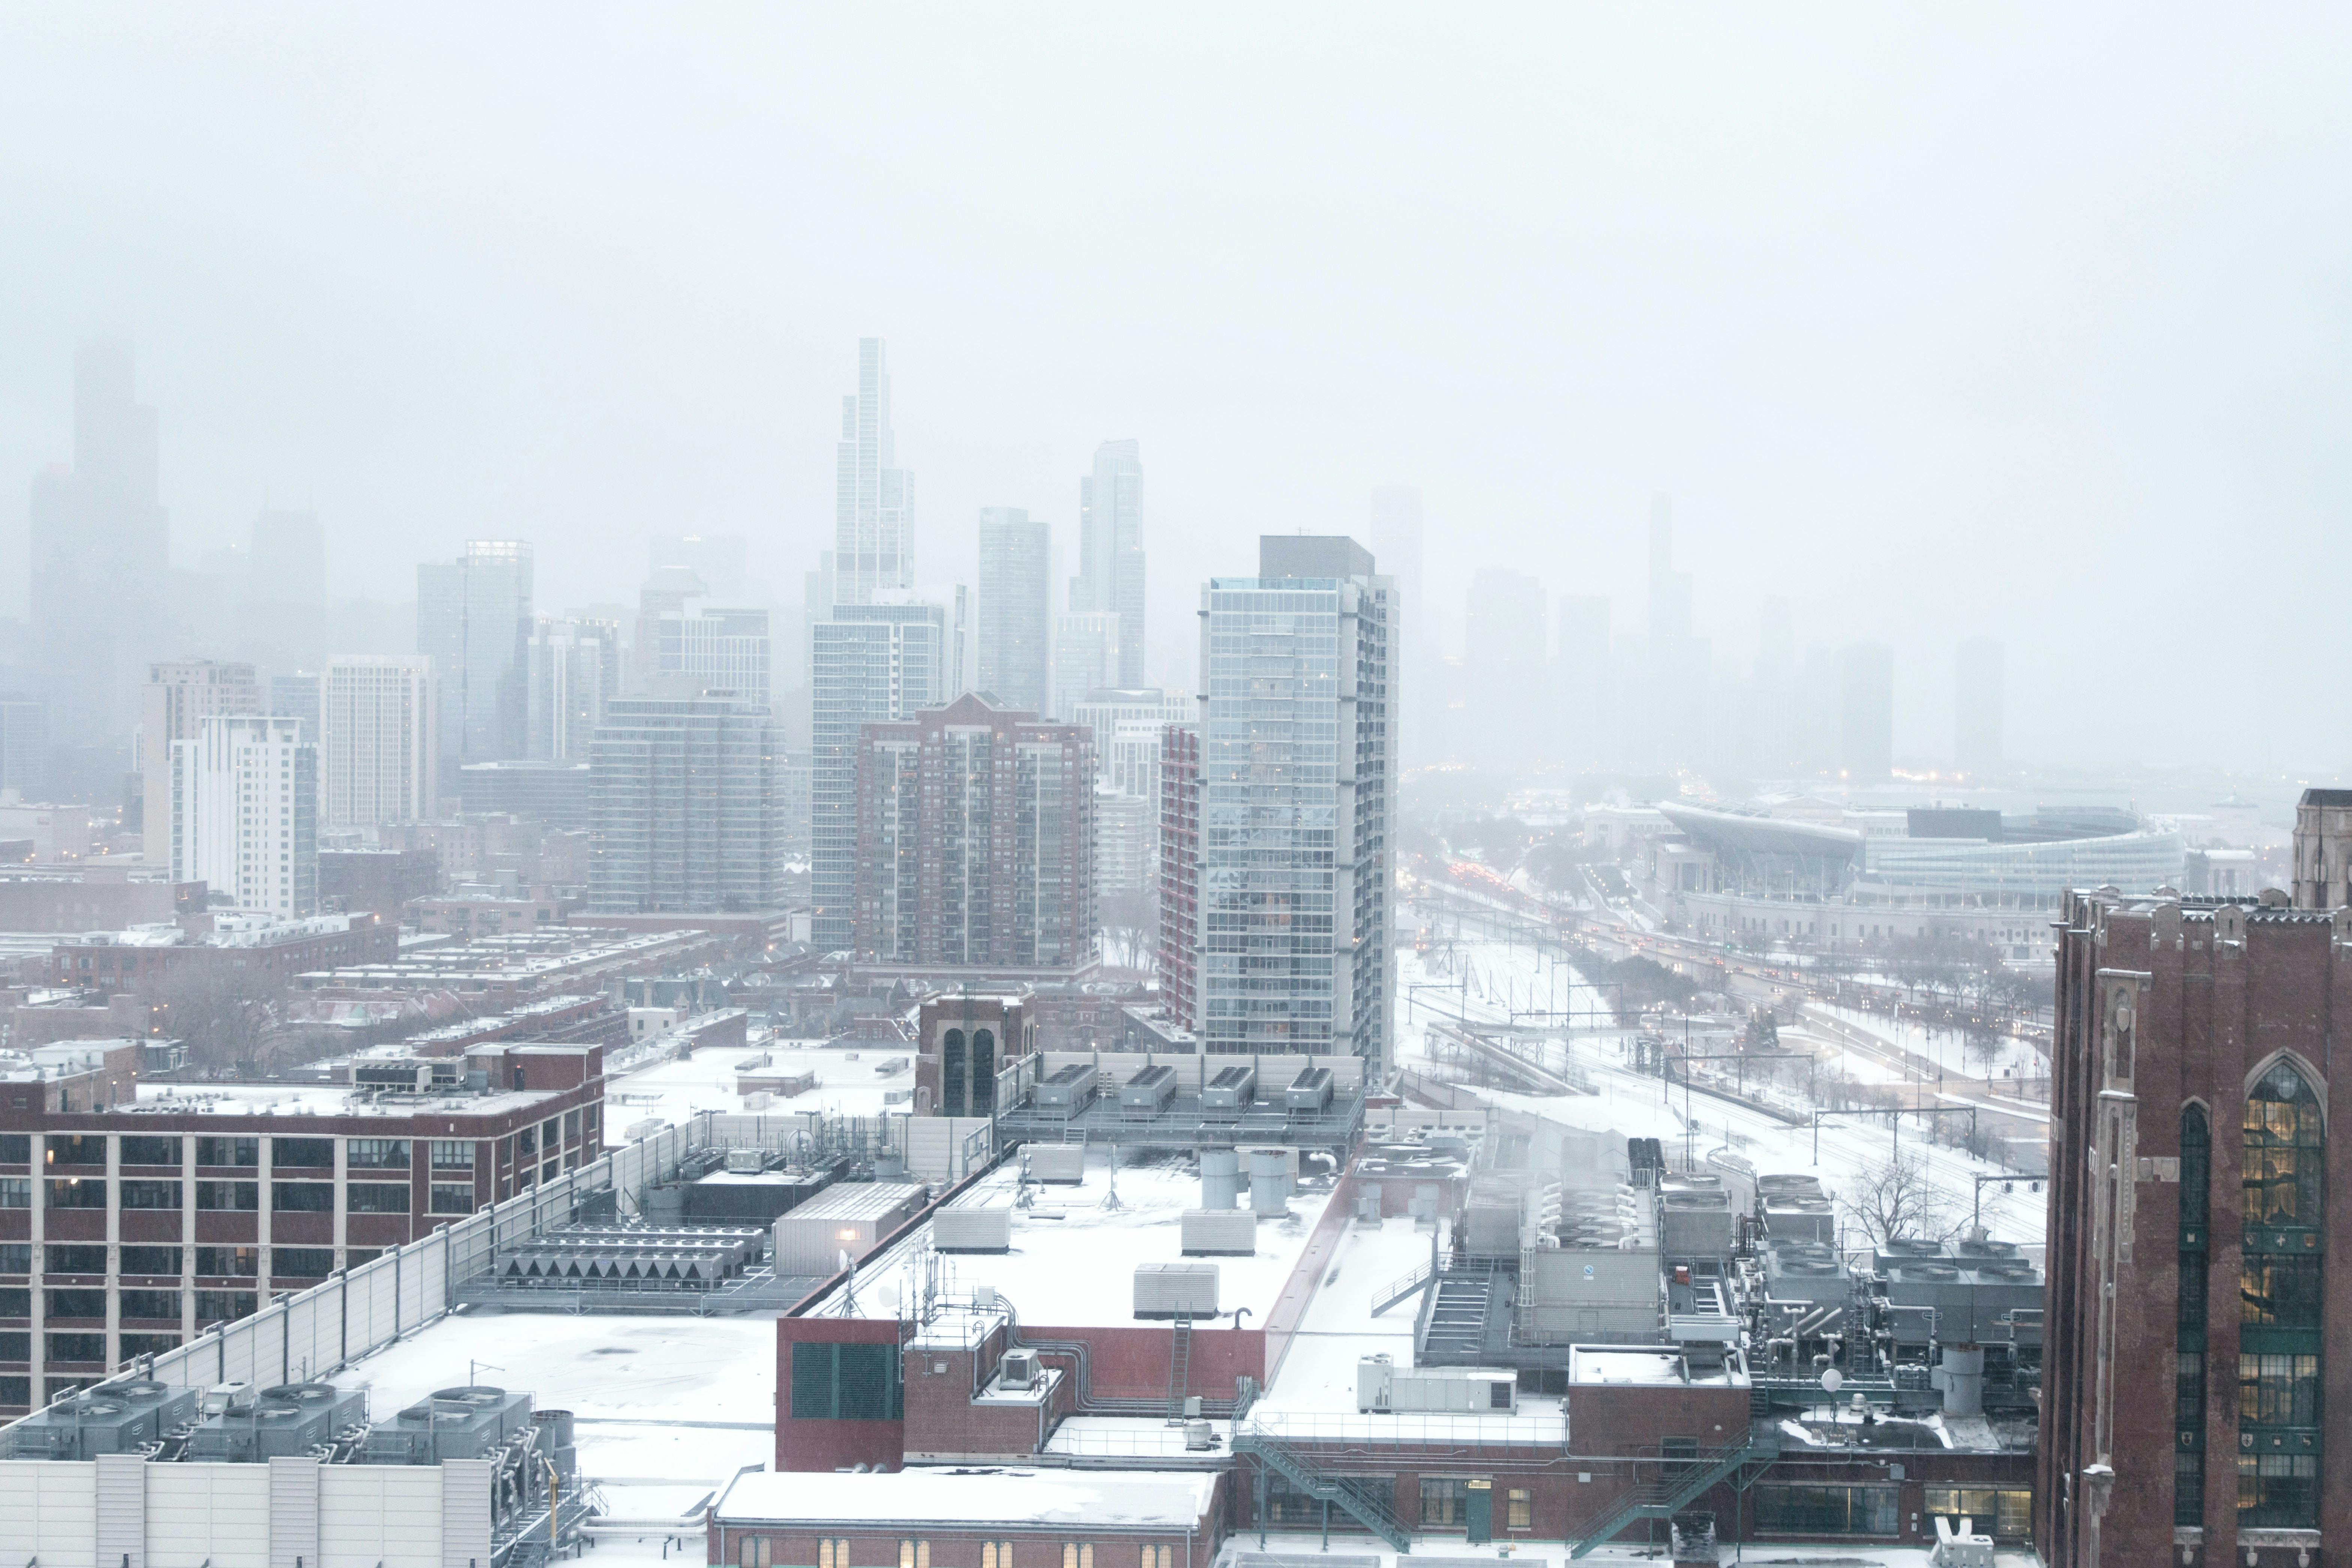
<svg viewBox="0 0 2352 1568">
<path fill-rule="evenodd" d="M 132 350 L 85 346 L 73 362 L 73 468 L 33 480 L 33 646 L 54 745 L 120 750 L 139 717 L 169 583 L 155 475 L 155 409 L 132 393 Z M 167 757 L 158 752 L 158 769 Z"/>
</svg>

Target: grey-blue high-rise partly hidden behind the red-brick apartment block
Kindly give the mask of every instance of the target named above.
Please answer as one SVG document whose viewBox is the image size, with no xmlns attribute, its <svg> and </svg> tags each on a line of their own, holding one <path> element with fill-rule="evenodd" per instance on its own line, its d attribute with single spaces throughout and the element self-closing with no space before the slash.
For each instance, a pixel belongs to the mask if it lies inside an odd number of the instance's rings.
<svg viewBox="0 0 2352 1568">
<path fill-rule="evenodd" d="M 948 611 L 938 604 L 835 604 L 814 628 L 809 764 L 811 938 L 856 940 L 858 726 L 913 717 L 948 679 Z"/>
</svg>

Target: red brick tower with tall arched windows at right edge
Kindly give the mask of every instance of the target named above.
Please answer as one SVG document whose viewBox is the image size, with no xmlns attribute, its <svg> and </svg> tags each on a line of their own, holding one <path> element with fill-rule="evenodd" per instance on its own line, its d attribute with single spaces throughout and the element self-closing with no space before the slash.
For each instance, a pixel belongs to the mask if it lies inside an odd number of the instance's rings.
<svg viewBox="0 0 2352 1568">
<path fill-rule="evenodd" d="M 2324 1331 L 2352 1305 L 2347 818 L 2352 795 L 2305 795 L 2310 907 L 2063 905 L 2034 1486 L 2051 1568 L 2352 1556 L 2352 1439 L 2328 1453 L 2324 1429 L 2352 1410 L 2352 1349 Z"/>
</svg>

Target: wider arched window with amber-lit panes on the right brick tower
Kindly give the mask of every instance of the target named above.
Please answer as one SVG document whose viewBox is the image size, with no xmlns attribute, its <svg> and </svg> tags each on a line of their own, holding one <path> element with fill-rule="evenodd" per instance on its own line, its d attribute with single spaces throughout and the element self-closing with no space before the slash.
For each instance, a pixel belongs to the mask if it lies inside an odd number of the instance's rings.
<svg viewBox="0 0 2352 1568">
<path fill-rule="evenodd" d="M 2319 1523 L 2319 1312 L 2326 1128 L 2293 1063 L 2246 1095 L 2237 1331 L 2237 1521 Z"/>
</svg>

